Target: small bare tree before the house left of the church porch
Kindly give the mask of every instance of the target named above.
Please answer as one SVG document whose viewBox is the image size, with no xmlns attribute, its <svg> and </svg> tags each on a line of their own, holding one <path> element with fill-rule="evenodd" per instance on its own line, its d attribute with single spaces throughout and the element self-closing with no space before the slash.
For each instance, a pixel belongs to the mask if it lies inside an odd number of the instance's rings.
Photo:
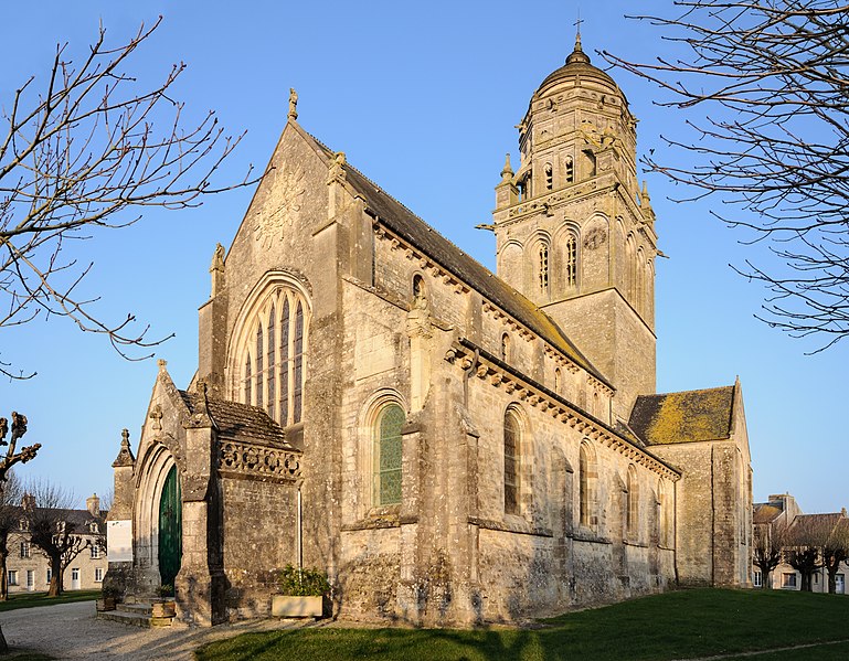
<svg viewBox="0 0 849 661">
<path fill-rule="evenodd" d="M 50 482 L 34 482 L 26 487 L 31 500 L 23 507 L 29 523 L 30 541 L 50 562 L 49 597 L 64 591 L 63 575 L 67 566 L 85 548 L 102 545 L 100 535 L 92 537 L 74 516 L 73 493 Z"/>
</svg>

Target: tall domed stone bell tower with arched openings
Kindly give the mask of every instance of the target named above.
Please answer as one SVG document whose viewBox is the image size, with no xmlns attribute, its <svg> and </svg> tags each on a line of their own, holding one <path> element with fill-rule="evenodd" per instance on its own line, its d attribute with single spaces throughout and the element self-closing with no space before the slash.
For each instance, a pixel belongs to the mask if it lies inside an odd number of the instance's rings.
<svg viewBox="0 0 849 661">
<path fill-rule="evenodd" d="M 616 387 L 614 418 L 655 392 L 655 214 L 628 102 L 581 46 L 531 97 L 520 162 L 496 186 L 498 276 L 542 308 Z"/>
</svg>

